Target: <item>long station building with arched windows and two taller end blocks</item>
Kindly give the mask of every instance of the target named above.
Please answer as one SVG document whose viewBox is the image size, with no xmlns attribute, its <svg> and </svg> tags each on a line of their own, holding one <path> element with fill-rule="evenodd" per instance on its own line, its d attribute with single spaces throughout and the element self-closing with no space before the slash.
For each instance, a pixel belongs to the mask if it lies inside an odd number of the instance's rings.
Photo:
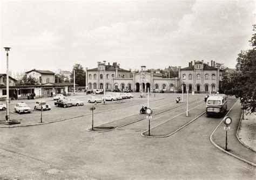
<svg viewBox="0 0 256 180">
<path fill-rule="evenodd" d="M 129 89 L 133 92 L 184 92 L 193 93 L 210 93 L 217 92 L 222 72 L 214 67 L 213 61 L 211 66 L 202 61 L 194 60 L 188 64 L 188 67 L 178 67 L 179 75 L 177 78 L 164 78 L 164 74 L 158 71 L 140 71 L 135 72 L 120 68 L 120 64 L 106 64 L 98 62 L 96 68 L 85 68 L 86 86 L 88 89 L 104 89 L 104 79 L 106 91 L 114 89 Z M 141 86 L 142 84 L 142 86 Z"/>
</svg>

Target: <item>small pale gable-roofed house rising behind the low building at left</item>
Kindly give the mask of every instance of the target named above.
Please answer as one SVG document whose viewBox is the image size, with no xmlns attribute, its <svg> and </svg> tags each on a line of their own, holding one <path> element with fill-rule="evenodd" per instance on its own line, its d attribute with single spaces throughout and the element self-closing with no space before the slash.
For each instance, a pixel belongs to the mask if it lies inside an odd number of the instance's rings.
<svg viewBox="0 0 256 180">
<path fill-rule="evenodd" d="M 45 71 L 45 70 L 31 70 L 28 72 L 25 72 L 27 77 L 31 76 L 33 78 L 36 78 L 40 84 L 46 84 L 46 83 L 54 83 L 55 73 L 52 71 Z"/>
</svg>

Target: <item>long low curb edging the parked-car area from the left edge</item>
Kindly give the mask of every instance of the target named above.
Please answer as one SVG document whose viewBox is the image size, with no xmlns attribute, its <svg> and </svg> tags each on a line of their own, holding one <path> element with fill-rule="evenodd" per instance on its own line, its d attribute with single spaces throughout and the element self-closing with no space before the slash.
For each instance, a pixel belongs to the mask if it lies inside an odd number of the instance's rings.
<svg viewBox="0 0 256 180">
<path fill-rule="evenodd" d="M 154 100 L 154 101 L 159 101 L 159 100 L 163 100 L 163 99 L 165 99 L 165 98 L 161 98 L 161 99 Z M 154 102 L 154 101 L 151 101 L 151 102 Z M 143 104 L 143 103 L 137 103 L 137 104 L 135 104 L 135 105 L 130 105 L 130 106 L 137 106 L 137 105 L 140 105 L 140 104 Z M 102 110 L 102 111 L 96 112 L 96 113 L 94 113 L 94 114 L 103 113 L 103 112 L 110 111 L 110 110 L 116 110 L 116 109 L 126 108 L 126 107 L 130 107 L 130 106 L 124 106 L 124 107 L 120 107 L 120 108 L 113 108 L 113 109 L 108 109 L 108 110 Z M 60 122 L 60 121 L 66 121 L 66 120 L 76 119 L 76 118 L 78 118 L 78 117 L 84 117 L 84 116 L 88 116 L 88 115 L 91 115 L 91 114 L 84 114 L 84 115 L 79 115 L 79 116 L 74 116 L 74 117 L 68 117 L 68 118 L 65 118 L 65 119 L 60 119 L 60 120 L 50 121 L 50 122 L 42 122 L 42 123 L 39 122 L 39 123 L 24 124 L 24 125 L 18 125 L 18 126 L 0 126 L 0 128 L 16 128 L 16 127 L 37 126 L 37 125 L 50 124 L 50 123 L 55 123 L 55 122 Z"/>
</svg>

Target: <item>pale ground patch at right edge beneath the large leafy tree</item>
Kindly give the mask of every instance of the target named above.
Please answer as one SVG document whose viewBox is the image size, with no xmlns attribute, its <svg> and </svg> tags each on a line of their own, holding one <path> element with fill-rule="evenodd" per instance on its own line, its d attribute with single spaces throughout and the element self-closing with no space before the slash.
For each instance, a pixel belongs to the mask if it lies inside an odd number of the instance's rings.
<svg viewBox="0 0 256 180">
<path fill-rule="evenodd" d="M 256 113 L 250 114 L 249 110 L 245 110 L 244 114 L 244 120 L 241 120 L 238 129 L 238 138 L 244 146 L 256 151 Z"/>
</svg>

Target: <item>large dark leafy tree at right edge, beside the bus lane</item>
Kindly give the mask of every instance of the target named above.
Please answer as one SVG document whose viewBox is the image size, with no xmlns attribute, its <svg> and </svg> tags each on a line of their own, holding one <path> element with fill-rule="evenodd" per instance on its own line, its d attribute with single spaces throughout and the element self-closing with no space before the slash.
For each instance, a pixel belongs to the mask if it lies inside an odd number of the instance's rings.
<svg viewBox="0 0 256 180">
<path fill-rule="evenodd" d="M 253 37 L 250 40 L 251 50 L 241 51 L 237 58 L 237 71 L 229 73 L 226 77 L 228 93 L 240 98 L 244 102 L 244 109 L 255 112 L 256 98 L 256 25 L 253 25 Z"/>
</svg>

